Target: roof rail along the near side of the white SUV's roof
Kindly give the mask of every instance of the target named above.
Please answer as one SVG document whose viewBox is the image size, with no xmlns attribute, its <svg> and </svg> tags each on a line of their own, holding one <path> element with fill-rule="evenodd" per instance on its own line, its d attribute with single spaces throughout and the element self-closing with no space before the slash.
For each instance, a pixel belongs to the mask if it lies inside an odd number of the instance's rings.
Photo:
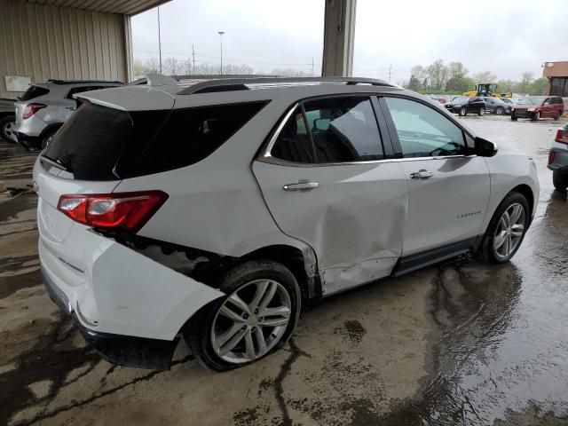
<svg viewBox="0 0 568 426">
<path fill-rule="evenodd" d="M 362 77 L 252 77 L 252 78 L 226 78 L 209 80 L 192 84 L 178 95 L 194 95 L 197 93 L 210 93 L 214 91 L 246 91 L 247 84 L 286 84 L 286 83 L 345 83 L 345 84 L 372 84 L 374 86 L 396 87 L 375 78 Z"/>
</svg>

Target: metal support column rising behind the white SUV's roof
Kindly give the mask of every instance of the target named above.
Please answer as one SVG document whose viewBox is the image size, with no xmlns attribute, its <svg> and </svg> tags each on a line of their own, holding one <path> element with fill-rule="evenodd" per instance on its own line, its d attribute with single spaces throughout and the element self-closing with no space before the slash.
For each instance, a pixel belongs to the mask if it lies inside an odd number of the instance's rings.
<svg viewBox="0 0 568 426">
<path fill-rule="evenodd" d="M 323 37 L 324 76 L 351 76 L 357 0 L 326 0 Z"/>
</svg>

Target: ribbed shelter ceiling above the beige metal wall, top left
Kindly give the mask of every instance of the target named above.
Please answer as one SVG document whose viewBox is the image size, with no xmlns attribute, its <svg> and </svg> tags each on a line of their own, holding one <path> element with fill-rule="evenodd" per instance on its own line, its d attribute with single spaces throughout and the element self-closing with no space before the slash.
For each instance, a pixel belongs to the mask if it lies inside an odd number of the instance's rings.
<svg viewBox="0 0 568 426">
<path fill-rule="evenodd" d="M 26 3 L 75 7 L 93 12 L 136 15 L 170 0 L 22 0 Z"/>
</svg>

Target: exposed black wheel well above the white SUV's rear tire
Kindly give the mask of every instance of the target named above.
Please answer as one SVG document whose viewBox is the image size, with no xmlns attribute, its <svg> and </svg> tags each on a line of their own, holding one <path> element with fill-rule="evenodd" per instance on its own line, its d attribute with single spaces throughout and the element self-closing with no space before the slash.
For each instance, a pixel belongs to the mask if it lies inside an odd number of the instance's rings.
<svg viewBox="0 0 568 426">
<path fill-rule="evenodd" d="M 241 261 L 250 259 L 268 259 L 286 266 L 293 274 L 304 300 L 321 297 L 321 284 L 319 276 L 309 277 L 305 269 L 305 259 L 299 248 L 277 245 L 259 248 L 248 255 L 241 257 Z M 317 271 L 317 269 L 316 269 Z"/>
</svg>

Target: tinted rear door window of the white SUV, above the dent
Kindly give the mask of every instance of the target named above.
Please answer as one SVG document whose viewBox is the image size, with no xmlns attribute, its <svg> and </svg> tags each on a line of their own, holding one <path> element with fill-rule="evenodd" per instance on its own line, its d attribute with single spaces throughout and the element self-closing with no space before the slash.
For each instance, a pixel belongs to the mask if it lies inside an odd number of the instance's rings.
<svg viewBox="0 0 568 426">
<path fill-rule="evenodd" d="M 306 102 L 304 109 L 317 162 L 383 160 L 381 135 L 369 98 L 313 100 Z"/>
</svg>

